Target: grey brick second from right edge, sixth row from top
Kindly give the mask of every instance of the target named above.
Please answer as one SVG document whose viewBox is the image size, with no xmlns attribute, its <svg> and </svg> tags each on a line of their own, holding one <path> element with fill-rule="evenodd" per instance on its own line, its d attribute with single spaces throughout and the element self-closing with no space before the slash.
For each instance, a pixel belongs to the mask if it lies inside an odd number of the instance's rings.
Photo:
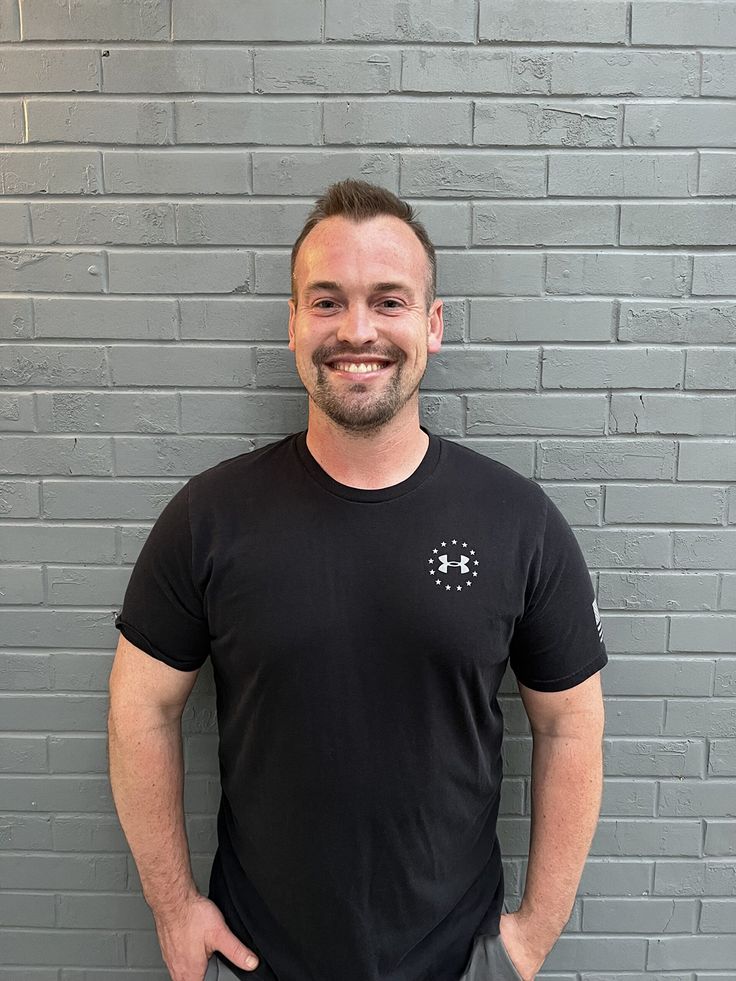
<svg viewBox="0 0 736 981">
<path fill-rule="evenodd" d="M 688 288 L 689 277 L 684 255 L 553 252 L 547 257 L 550 293 L 680 296 Z"/>
</svg>

